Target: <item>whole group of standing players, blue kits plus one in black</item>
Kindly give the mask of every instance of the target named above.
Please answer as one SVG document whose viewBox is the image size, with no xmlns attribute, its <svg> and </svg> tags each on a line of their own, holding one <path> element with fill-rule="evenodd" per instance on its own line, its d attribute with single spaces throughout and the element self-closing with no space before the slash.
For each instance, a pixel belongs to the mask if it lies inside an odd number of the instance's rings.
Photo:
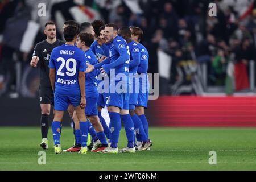
<svg viewBox="0 0 256 182">
<path fill-rule="evenodd" d="M 148 100 L 148 52 L 139 43 L 139 27 L 104 24 L 101 20 L 64 23 L 65 42 L 56 39 L 56 26 L 47 22 L 47 39 L 36 44 L 31 67 L 40 63 L 40 146 L 48 148 L 48 120 L 54 106 L 52 135 L 55 154 L 88 150 L 99 153 L 134 153 L 149 150 L 148 122 L 144 115 Z M 108 107 L 109 126 L 101 116 Z M 73 123 L 75 142 L 60 146 L 64 111 Z M 127 147 L 118 150 L 121 119 Z M 89 139 L 88 136 L 92 139 Z"/>
</svg>

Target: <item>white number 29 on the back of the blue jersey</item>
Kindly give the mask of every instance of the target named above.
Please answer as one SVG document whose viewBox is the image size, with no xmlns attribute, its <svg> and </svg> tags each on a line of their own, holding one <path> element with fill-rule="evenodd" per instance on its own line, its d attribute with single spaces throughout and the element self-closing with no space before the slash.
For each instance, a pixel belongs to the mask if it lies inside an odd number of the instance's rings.
<svg viewBox="0 0 256 182">
<path fill-rule="evenodd" d="M 68 76 L 74 76 L 76 74 L 76 64 L 77 63 L 76 63 L 75 59 L 69 58 L 67 61 L 65 61 L 63 57 L 58 57 L 57 61 L 58 62 L 61 61 L 61 65 L 57 71 L 57 75 L 65 76 L 65 73 L 66 73 L 66 75 L 68 75 Z M 69 63 L 73 63 L 72 68 L 69 67 Z M 61 72 L 64 66 L 67 69 L 67 72 L 65 72 L 65 73 Z"/>
</svg>

